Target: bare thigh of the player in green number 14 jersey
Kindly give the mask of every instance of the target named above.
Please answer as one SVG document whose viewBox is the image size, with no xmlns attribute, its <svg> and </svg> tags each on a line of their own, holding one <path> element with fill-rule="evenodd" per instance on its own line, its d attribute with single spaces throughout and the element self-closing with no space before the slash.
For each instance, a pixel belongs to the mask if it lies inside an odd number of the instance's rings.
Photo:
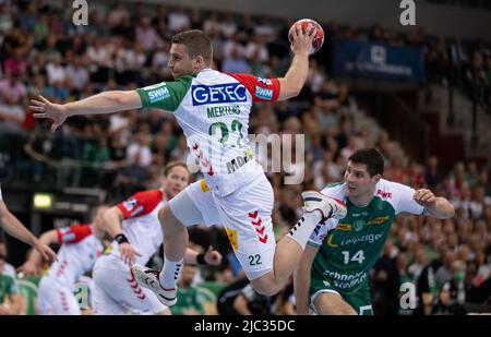
<svg viewBox="0 0 491 337">
<path fill-rule="evenodd" d="M 356 315 L 355 309 L 334 290 L 321 290 L 312 296 L 311 306 L 318 315 Z"/>
</svg>

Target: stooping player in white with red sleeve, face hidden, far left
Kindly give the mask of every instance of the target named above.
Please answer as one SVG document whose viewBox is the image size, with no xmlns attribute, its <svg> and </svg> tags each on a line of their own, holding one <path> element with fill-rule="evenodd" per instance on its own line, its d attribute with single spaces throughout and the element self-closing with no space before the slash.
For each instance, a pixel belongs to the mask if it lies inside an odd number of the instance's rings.
<svg viewBox="0 0 491 337">
<path fill-rule="evenodd" d="M 39 238 L 44 244 L 60 243 L 58 261 L 39 281 L 37 293 L 38 312 L 41 315 L 80 315 L 81 309 L 74 296 L 75 282 L 87 272 L 103 253 L 101 239 L 105 234 L 103 213 L 107 206 L 99 206 L 89 225 L 72 225 L 49 230 Z M 38 275 L 40 255 L 33 251 L 20 267 L 26 275 Z"/>
</svg>

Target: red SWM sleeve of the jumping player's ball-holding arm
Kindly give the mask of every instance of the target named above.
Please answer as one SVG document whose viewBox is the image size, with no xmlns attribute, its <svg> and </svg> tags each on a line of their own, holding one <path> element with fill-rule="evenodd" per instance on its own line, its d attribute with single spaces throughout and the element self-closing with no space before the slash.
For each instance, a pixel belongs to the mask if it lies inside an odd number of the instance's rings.
<svg viewBox="0 0 491 337">
<path fill-rule="evenodd" d="M 228 74 L 239 81 L 249 94 L 252 101 L 276 101 L 279 96 L 279 81 L 277 79 L 261 79 L 251 74 Z"/>
</svg>

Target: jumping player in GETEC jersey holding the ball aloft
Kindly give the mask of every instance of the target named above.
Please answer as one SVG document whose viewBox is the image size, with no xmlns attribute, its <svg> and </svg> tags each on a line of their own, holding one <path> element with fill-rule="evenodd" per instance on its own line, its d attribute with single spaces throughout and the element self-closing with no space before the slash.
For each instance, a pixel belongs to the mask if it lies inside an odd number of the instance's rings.
<svg viewBox="0 0 491 337">
<path fill-rule="evenodd" d="M 300 93 L 307 80 L 314 33 L 312 25 L 306 31 L 296 26 L 290 46 L 294 59 L 280 79 L 213 70 L 209 38 L 201 31 L 187 31 L 172 38 L 168 67 L 173 82 L 106 92 L 65 105 L 52 104 L 44 97 L 32 99 L 34 117 L 51 119 L 52 130 L 75 115 L 140 108 L 175 115 L 200 165 L 204 183 L 190 184 L 159 210 L 165 238 L 163 270 L 133 266 L 139 284 L 155 291 L 163 303 L 172 305 L 177 301 L 175 275 L 188 246 L 189 226 L 221 224 L 254 289 L 272 296 L 294 273 L 315 225 L 330 217 L 345 216 L 342 203 L 318 192 L 303 193 L 302 218 L 276 244 L 273 189 L 249 145 L 252 104 L 285 100 Z"/>
</svg>

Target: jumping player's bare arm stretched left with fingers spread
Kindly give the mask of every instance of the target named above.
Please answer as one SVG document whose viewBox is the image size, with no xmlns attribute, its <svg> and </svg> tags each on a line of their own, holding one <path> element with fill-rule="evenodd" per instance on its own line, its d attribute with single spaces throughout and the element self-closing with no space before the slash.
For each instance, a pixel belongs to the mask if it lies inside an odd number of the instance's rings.
<svg viewBox="0 0 491 337">
<path fill-rule="evenodd" d="M 142 100 L 136 91 L 112 91 L 64 105 L 52 104 L 39 96 L 39 99 L 31 99 L 29 109 L 34 111 L 35 118 L 51 119 L 51 130 L 55 131 L 71 116 L 111 113 L 141 107 Z"/>
</svg>

